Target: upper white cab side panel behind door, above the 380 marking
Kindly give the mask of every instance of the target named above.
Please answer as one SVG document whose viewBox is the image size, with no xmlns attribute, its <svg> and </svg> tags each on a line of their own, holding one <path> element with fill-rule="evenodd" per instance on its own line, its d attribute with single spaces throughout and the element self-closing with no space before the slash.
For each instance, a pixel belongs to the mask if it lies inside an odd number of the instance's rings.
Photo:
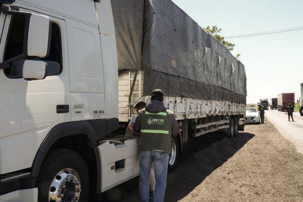
<svg viewBox="0 0 303 202">
<path fill-rule="evenodd" d="M 98 29 L 66 19 L 71 92 L 104 93 L 102 52 Z"/>
</svg>

